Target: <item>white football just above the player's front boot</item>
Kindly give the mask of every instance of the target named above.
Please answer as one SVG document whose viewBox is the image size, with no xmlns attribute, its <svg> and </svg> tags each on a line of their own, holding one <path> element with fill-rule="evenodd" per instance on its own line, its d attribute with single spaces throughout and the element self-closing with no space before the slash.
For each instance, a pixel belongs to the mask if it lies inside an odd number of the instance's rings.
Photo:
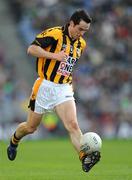
<svg viewBox="0 0 132 180">
<path fill-rule="evenodd" d="M 81 150 L 90 154 L 94 151 L 101 151 L 102 140 L 100 136 L 95 132 L 87 132 L 82 135 L 80 140 Z"/>
</svg>

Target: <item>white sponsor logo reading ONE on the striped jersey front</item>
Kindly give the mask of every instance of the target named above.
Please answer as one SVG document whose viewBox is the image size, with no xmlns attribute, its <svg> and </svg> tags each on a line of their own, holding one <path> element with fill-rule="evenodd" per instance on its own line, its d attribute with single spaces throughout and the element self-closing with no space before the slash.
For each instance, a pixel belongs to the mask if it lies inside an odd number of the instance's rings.
<svg viewBox="0 0 132 180">
<path fill-rule="evenodd" d="M 73 66 L 75 65 L 76 61 L 77 58 L 68 56 L 66 61 L 62 61 L 60 63 L 57 73 L 63 76 L 69 76 L 73 71 Z"/>
</svg>

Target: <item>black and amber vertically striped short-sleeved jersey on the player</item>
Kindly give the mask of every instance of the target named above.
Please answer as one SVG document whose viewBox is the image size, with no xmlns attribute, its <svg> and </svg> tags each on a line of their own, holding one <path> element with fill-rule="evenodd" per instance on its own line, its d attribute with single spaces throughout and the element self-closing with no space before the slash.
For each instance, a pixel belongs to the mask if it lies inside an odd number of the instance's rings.
<svg viewBox="0 0 132 180">
<path fill-rule="evenodd" d="M 68 54 L 66 61 L 37 58 L 37 73 L 41 78 L 63 84 L 72 82 L 73 67 L 80 58 L 85 46 L 85 40 L 80 37 L 72 40 L 68 34 L 68 24 L 53 27 L 38 34 L 32 44 L 38 45 L 46 51 L 58 53 L 65 49 Z"/>
</svg>

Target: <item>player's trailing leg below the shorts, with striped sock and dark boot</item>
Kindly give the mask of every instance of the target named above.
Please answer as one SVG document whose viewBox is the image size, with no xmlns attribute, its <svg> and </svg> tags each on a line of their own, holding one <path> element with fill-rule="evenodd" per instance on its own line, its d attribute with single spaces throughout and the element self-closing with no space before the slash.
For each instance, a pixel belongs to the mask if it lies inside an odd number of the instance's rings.
<svg viewBox="0 0 132 180">
<path fill-rule="evenodd" d="M 18 125 L 15 133 L 12 135 L 10 144 L 7 148 L 8 159 L 13 161 L 16 158 L 17 147 L 20 140 L 27 134 L 33 133 L 41 122 L 42 114 L 29 110 L 26 122 Z"/>
</svg>

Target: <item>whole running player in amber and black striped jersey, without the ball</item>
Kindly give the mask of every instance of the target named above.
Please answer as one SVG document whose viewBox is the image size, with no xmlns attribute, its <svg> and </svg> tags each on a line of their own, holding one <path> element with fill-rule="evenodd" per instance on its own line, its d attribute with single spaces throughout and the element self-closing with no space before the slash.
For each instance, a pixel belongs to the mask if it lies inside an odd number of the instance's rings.
<svg viewBox="0 0 132 180">
<path fill-rule="evenodd" d="M 27 53 L 37 58 L 38 79 L 35 81 L 27 121 L 18 125 L 7 148 L 9 160 L 14 160 L 20 140 L 36 131 L 46 111 L 55 110 L 69 133 L 71 142 L 88 172 L 100 159 L 100 153 L 87 155 L 80 151 L 82 132 L 76 114 L 72 89 L 72 72 L 85 49 L 83 39 L 91 24 L 84 10 L 75 11 L 64 26 L 53 27 L 38 34 Z"/>
</svg>

